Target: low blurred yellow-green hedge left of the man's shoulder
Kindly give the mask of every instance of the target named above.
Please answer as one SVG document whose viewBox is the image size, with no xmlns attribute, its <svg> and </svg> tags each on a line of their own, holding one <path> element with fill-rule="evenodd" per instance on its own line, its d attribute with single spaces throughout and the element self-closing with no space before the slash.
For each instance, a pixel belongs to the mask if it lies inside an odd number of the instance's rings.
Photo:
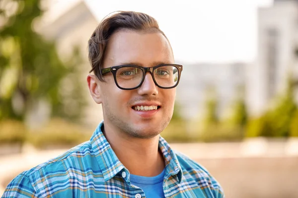
<svg viewBox="0 0 298 198">
<path fill-rule="evenodd" d="M 72 147 L 90 139 L 93 131 L 62 119 L 52 119 L 43 128 L 27 130 L 16 120 L 0 122 L 0 144 L 29 143 L 36 148 L 62 145 Z"/>
</svg>

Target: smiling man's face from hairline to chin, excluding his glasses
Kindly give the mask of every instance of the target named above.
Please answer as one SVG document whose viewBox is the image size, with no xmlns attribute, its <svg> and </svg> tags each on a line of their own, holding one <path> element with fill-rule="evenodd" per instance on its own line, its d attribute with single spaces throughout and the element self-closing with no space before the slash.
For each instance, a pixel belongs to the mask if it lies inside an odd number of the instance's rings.
<svg viewBox="0 0 298 198">
<path fill-rule="evenodd" d="M 161 33 L 122 30 L 111 36 L 103 68 L 123 64 L 153 67 L 161 63 L 174 63 L 171 47 Z M 106 82 L 98 84 L 105 123 L 137 138 L 152 138 L 168 125 L 173 115 L 175 88 L 158 88 L 149 72 L 142 86 L 135 90 L 119 89 L 111 72 L 104 79 Z M 136 110 L 138 106 L 158 108 Z"/>
</svg>

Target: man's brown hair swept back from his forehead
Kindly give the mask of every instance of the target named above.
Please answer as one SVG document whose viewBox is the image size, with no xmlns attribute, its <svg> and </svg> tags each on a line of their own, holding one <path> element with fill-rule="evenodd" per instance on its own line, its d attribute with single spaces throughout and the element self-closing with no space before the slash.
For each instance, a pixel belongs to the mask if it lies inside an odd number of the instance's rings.
<svg viewBox="0 0 298 198">
<path fill-rule="evenodd" d="M 134 11 L 119 11 L 105 17 L 94 30 L 88 41 L 90 72 L 104 81 L 101 74 L 102 63 L 109 38 L 117 30 L 128 29 L 135 31 L 157 31 L 163 36 L 157 21 L 148 14 Z M 166 36 L 165 36 L 166 38 Z"/>
</svg>

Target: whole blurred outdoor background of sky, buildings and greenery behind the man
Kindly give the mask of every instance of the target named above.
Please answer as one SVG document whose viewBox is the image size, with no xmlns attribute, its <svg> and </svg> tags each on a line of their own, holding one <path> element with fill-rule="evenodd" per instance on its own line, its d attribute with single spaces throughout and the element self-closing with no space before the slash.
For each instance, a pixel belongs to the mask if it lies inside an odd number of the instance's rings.
<svg viewBox="0 0 298 198">
<path fill-rule="evenodd" d="M 0 195 L 102 120 L 87 41 L 116 10 L 156 18 L 184 65 L 172 147 L 227 198 L 298 197 L 298 0 L 0 0 Z"/>
</svg>

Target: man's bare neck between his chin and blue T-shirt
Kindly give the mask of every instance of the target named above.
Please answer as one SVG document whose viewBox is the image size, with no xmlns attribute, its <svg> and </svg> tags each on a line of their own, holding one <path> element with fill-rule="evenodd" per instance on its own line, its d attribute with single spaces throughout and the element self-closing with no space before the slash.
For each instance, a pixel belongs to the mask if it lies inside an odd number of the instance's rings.
<svg viewBox="0 0 298 198">
<path fill-rule="evenodd" d="M 131 137 L 104 125 L 104 134 L 121 163 L 133 175 L 153 177 L 164 169 L 164 159 L 158 149 L 159 136 L 150 139 Z"/>
</svg>

